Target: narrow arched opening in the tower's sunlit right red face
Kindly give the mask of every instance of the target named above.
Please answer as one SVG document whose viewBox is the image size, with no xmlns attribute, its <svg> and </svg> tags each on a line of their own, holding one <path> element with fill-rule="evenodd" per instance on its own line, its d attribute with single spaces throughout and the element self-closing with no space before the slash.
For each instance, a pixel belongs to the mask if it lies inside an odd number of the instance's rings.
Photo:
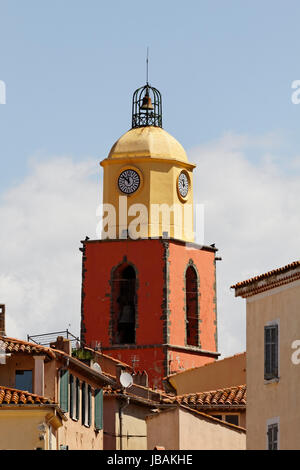
<svg viewBox="0 0 300 470">
<path fill-rule="evenodd" d="M 185 274 L 186 295 L 186 342 L 190 346 L 199 345 L 199 314 L 198 314 L 198 278 L 193 266 L 189 266 Z"/>
</svg>

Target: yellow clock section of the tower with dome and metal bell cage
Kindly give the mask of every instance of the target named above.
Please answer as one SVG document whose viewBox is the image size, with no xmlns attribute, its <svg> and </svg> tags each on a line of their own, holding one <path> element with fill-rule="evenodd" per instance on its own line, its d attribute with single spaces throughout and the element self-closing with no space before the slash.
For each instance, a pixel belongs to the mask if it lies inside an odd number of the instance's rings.
<svg viewBox="0 0 300 470">
<path fill-rule="evenodd" d="M 132 99 L 132 128 L 101 162 L 102 238 L 172 237 L 194 241 L 193 170 L 180 143 L 162 129 L 160 92 L 149 84 Z M 125 235 L 124 235 L 125 234 Z"/>
</svg>

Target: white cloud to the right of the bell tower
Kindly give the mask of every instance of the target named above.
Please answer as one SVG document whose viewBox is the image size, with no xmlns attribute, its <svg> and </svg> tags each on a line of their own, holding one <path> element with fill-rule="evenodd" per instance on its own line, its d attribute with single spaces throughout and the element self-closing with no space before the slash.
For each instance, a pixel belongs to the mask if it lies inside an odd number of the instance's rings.
<svg viewBox="0 0 300 470">
<path fill-rule="evenodd" d="M 270 141 L 270 145 L 268 145 Z M 250 160 L 253 148 L 260 156 Z M 216 243 L 219 350 L 245 349 L 245 300 L 230 286 L 299 259 L 299 157 L 280 161 L 266 138 L 226 135 L 194 149 L 195 200 L 205 204 L 205 241 Z M 293 168 L 293 171 L 290 171 Z"/>
</svg>

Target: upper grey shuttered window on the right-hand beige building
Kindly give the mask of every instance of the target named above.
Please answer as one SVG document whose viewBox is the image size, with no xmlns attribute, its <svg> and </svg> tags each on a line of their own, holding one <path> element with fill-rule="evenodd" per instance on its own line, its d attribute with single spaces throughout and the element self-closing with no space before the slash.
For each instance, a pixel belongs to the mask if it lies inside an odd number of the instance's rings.
<svg viewBox="0 0 300 470">
<path fill-rule="evenodd" d="M 265 326 L 265 380 L 278 377 L 278 325 Z"/>
</svg>

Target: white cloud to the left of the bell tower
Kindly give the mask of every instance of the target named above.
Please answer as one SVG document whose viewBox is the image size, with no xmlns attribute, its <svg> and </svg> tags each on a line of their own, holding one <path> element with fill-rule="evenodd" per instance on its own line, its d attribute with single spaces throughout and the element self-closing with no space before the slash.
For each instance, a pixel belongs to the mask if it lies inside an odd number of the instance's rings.
<svg viewBox="0 0 300 470">
<path fill-rule="evenodd" d="M 95 236 L 98 162 L 32 161 L 0 200 L 0 302 L 10 336 L 80 327 L 81 246 Z"/>
</svg>

